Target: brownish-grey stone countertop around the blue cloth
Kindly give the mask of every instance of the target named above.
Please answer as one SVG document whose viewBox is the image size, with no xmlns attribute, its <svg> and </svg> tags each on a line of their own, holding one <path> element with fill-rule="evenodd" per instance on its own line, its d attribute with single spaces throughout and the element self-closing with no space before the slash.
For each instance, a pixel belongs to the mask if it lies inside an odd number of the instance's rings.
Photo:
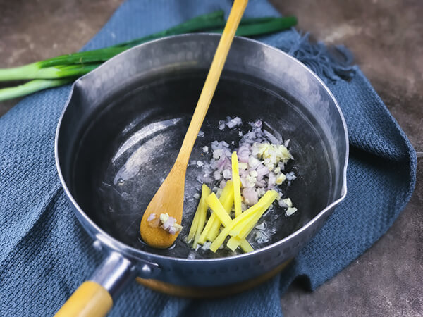
<svg viewBox="0 0 423 317">
<path fill-rule="evenodd" d="M 122 0 L 0 0 L 0 67 L 77 51 Z M 355 55 L 417 151 L 423 151 L 423 2 L 271 0 L 298 30 Z M 4 87 L 0 84 L 0 87 Z M 18 99 L 0 102 L 0 116 Z M 295 282 L 281 299 L 286 316 L 423 315 L 423 163 L 410 203 L 392 228 L 314 292 Z"/>
</svg>

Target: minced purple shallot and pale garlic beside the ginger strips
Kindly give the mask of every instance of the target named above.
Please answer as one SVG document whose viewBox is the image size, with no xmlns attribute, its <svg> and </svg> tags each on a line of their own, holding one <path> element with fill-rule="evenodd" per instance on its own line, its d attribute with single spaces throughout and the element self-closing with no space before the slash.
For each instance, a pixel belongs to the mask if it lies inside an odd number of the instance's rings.
<svg viewBox="0 0 423 317">
<path fill-rule="evenodd" d="M 219 121 L 219 129 L 240 129 L 242 123 L 238 117 L 227 117 L 226 120 Z M 237 151 L 244 209 L 256 204 L 258 199 L 270 189 L 279 193 L 279 206 L 292 208 L 292 203 L 289 206 L 286 204 L 286 199 L 281 199 L 283 193 L 280 188 L 284 182 L 289 186 L 290 182 L 296 178 L 293 171 L 288 173 L 286 171 L 286 164 L 294 159 L 288 150 L 289 140 L 283 142 L 282 139 L 278 139 L 265 130 L 262 120 L 256 120 L 249 125 L 248 132 L 238 131 L 240 135 L 238 149 L 231 149 L 225 141 L 216 140 L 210 144 L 212 159 L 204 162 L 202 166 L 197 164 L 202 167 L 202 173 L 197 180 L 214 186 L 214 192 L 219 194 L 226 181 L 232 177 L 231 154 Z M 205 153 L 209 152 L 209 147 L 205 150 L 203 148 Z"/>
</svg>

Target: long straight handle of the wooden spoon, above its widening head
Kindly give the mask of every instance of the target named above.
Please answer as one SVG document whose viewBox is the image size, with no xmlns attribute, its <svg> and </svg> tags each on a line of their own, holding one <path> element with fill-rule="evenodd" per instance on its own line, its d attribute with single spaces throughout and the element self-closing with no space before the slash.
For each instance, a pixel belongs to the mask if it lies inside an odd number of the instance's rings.
<svg viewBox="0 0 423 317">
<path fill-rule="evenodd" d="M 192 147 L 194 147 L 195 139 L 197 139 L 198 132 L 200 132 L 201 125 L 206 116 L 207 109 L 212 102 L 214 91 L 216 90 L 217 82 L 222 73 L 223 66 L 225 65 L 226 56 L 228 56 L 229 49 L 235 36 L 235 32 L 240 24 L 241 17 L 245 11 L 248 0 L 235 0 L 229 14 L 228 21 L 223 30 L 219 45 L 216 49 L 216 54 L 210 66 L 209 73 L 207 74 L 206 82 L 198 99 L 197 106 L 195 107 L 194 114 L 190 126 L 188 127 L 185 138 L 183 139 L 182 147 L 178 154 L 177 162 L 182 166 L 188 164 L 190 159 Z"/>
</svg>

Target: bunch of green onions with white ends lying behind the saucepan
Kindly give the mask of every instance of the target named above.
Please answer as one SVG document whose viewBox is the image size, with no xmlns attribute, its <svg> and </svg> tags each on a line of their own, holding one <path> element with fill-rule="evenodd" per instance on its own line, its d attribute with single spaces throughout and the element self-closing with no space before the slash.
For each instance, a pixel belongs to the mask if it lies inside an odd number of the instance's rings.
<svg viewBox="0 0 423 317">
<path fill-rule="evenodd" d="M 244 18 L 241 20 L 236 35 L 254 37 L 271 32 L 286 30 L 296 25 L 295 17 L 285 18 Z M 223 11 L 216 11 L 192 18 L 184 23 L 171 27 L 168 30 L 147 35 L 140 39 L 124 42 L 104 49 L 82 51 L 73 54 L 56 56 L 44 61 L 37 61 L 16 68 L 0 69 L 0 81 L 32 80 L 16 87 L 0 89 L 0 101 L 31 94 L 42 89 L 57 87 L 72 82 L 81 75 L 90 73 L 104 61 L 120 54 L 133 46 L 159 39 L 169 35 L 178 35 L 191 32 L 221 33 L 226 21 Z M 63 80 L 61 80 L 63 79 Z"/>
</svg>

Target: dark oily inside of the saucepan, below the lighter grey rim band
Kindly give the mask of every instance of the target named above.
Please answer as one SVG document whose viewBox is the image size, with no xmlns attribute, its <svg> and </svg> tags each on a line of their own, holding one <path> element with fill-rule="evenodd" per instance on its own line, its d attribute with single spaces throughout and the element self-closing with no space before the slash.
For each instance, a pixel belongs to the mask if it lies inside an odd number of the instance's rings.
<svg viewBox="0 0 423 317">
<path fill-rule="evenodd" d="M 104 101 L 78 137 L 70 186 L 73 197 L 102 230 L 131 247 L 190 259 L 233 255 L 226 249 L 216 254 L 202 249 L 193 253 L 183 242 L 197 208 L 193 196 L 201 188 L 196 180 L 201 168 L 195 164 L 188 166 L 186 174 L 183 231 L 176 244 L 170 249 L 152 249 L 142 243 L 139 234 L 142 214 L 176 159 L 205 76 L 187 72 L 136 82 Z M 226 116 L 242 118 L 244 132 L 249 130 L 249 121 L 262 119 L 274 134 L 291 140 L 295 158 L 288 170 L 294 170 L 298 178 L 285 193 L 298 212 L 286 217 L 283 209 L 275 207 L 266 213 L 271 238 L 258 244 L 250 237 L 255 249 L 290 235 L 331 203 L 333 163 L 324 133 L 289 94 L 254 77 L 223 73 L 202 126 L 204 137 L 197 138 L 190 161 L 208 161 L 212 154 L 204 154 L 202 147 L 210 147 L 214 140 L 235 141 L 231 147 L 238 147 L 237 130 L 217 128 Z"/>
</svg>

